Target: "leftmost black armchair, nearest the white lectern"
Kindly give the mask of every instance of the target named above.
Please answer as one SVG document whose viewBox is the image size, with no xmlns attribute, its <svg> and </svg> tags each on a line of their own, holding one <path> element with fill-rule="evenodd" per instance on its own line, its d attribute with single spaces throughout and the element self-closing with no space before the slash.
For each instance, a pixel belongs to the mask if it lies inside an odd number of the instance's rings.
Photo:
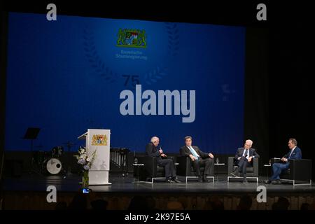
<svg viewBox="0 0 315 224">
<path fill-rule="evenodd" d="M 144 164 L 144 169 L 139 172 L 139 180 L 148 181 L 153 183 L 156 179 L 165 179 L 165 168 L 158 165 L 156 157 L 148 155 L 138 156 L 138 164 Z M 168 156 L 168 159 L 172 159 L 176 162 L 176 158 Z M 163 158 L 162 158 L 163 159 Z"/>
</svg>

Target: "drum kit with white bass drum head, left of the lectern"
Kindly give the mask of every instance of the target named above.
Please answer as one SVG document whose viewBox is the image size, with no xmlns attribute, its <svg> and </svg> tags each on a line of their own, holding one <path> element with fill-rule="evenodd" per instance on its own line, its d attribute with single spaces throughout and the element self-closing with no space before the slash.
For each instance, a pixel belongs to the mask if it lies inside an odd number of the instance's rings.
<svg viewBox="0 0 315 224">
<path fill-rule="evenodd" d="M 66 146 L 69 147 L 69 144 Z M 34 151 L 34 165 L 38 167 L 39 173 L 41 174 L 55 175 L 60 172 L 65 173 L 65 169 L 61 162 L 62 155 L 64 155 L 64 148 L 62 146 L 55 146 L 51 151 Z"/>
</svg>

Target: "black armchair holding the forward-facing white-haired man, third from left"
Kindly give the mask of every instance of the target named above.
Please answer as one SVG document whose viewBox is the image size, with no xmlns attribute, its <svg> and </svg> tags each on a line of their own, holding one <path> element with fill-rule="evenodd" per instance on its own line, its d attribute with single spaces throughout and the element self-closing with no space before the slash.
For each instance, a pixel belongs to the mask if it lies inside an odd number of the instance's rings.
<svg viewBox="0 0 315 224">
<path fill-rule="evenodd" d="M 258 162 L 259 158 L 253 158 L 253 166 L 246 168 L 246 178 L 247 179 L 255 179 L 258 183 Z M 228 182 L 230 179 L 243 179 L 242 177 L 230 176 L 230 173 L 234 172 L 237 169 L 237 165 L 235 165 L 235 157 L 228 158 Z"/>
</svg>

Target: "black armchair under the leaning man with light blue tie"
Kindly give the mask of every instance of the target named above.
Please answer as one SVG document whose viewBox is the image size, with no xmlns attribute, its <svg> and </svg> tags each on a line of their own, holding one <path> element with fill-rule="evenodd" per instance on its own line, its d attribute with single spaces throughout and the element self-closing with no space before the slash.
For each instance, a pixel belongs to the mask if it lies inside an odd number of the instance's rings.
<svg viewBox="0 0 315 224">
<path fill-rule="evenodd" d="M 179 166 L 177 168 L 177 175 L 178 176 L 184 176 L 186 177 L 186 183 L 188 179 L 197 179 L 198 176 L 193 168 L 193 165 L 191 164 L 191 159 L 187 156 L 180 156 L 176 159 L 176 161 L 179 163 Z M 200 172 L 204 172 L 204 167 L 200 167 Z M 212 182 L 214 183 L 214 164 L 211 169 L 211 173 L 207 178 L 212 178 Z"/>
</svg>

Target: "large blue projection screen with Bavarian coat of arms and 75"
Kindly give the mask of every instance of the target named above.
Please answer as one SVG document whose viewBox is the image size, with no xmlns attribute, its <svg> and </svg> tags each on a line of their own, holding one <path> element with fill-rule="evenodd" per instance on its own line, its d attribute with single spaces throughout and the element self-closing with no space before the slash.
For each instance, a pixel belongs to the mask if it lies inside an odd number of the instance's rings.
<svg viewBox="0 0 315 224">
<path fill-rule="evenodd" d="M 235 153 L 244 50 L 244 27 L 10 13 L 6 150 L 29 151 L 22 137 L 40 127 L 45 151 L 102 128 L 130 151 L 158 136 L 178 153 L 190 135 L 202 151 Z"/>
</svg>

